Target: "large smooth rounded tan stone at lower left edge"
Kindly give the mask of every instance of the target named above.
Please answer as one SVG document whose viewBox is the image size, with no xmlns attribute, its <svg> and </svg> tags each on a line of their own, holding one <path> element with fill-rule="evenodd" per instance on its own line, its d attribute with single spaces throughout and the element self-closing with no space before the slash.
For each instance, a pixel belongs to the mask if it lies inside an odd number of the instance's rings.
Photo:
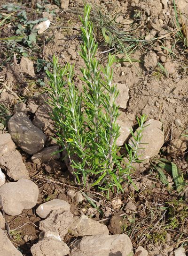
<svg viewBox="0 0 188 256">
<path fill-rule="evenodd" d="M 5 213 L 16 216 L 24 209 L 29 210 L 37 204 L 39 188 L 29 179 L 5 183 L 0 187 Z"/>
</svg>

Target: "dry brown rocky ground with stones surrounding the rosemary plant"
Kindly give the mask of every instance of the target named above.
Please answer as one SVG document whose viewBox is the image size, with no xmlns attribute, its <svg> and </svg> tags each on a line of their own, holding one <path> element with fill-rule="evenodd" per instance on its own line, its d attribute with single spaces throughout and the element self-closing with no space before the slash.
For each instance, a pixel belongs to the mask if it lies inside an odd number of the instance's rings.
<svg viewBox="0 0 188 256">
<path fill-rule="evenodd" d="M 188 255 L 188 34 L 183 41 L 177 34 L 182 24 L 188 29 L 188 1 L 175 1 L 180 27 L 172 0 L 89 1 L 98 57 L 105 64 L 109 51 L 117 56 L 118 145 L 131 144 L 136 116 L 148 117 L 144 161 L 131 174 L 136 187 L 127 181 L 125 193 L 110 198 L 77 186 L 62 153 L 53 154 L 45 69 L 53 54 L 75 64 L 82 90 L 82 1 L 1 2 L 0 22 L 11 17 L 0 23 L 0 256 Z M 32 37 L 31 24 L 39 29 Z M 178 176 L 163 168 L 164 179 L 156 158 L 173 163 Z"/>
</svg>

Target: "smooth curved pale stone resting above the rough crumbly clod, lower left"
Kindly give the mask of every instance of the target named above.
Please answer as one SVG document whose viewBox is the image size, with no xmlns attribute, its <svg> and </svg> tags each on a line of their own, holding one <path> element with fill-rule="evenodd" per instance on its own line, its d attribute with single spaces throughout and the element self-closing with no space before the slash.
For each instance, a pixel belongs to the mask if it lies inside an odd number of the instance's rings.
<svg viewBox="0 0 188 256">
<path fill-rule="evenodd" d="M 40 218 L 45 219 L 49 213 L 54 210 L 61 209 L 62 211 L 69 211 L 71 205 L 64 200 L 61 199 L 53 199 L 48 201 L 44 204 L 39 205 L 36 209 L 36 213 L 39 215 Z"/>
</svg>

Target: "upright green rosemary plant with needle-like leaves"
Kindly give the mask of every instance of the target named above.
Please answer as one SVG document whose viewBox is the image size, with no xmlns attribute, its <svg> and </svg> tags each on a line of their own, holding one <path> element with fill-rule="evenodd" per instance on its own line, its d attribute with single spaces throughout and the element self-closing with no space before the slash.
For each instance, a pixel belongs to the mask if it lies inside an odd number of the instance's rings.
<svg viewBox="0 0 188 256">
<path fill-rule="evenodd" d="M 52 73 L 47 71 L 49 103 L 53 109 L 57 142 L 66 151 L 75 181 L 84 186 L 98 186 L 102 190 L 109 191 L 116 187 L 118 191 L 123 191 L 121 183 L 130 177 L 136 153 L 129 151 L 130 164 L 123 168 L 116 145 L 119 126 L 116 123 L 118 90 L 112 83 L 114 56 L 109 54 L 105 67 L 96 60 L 98 47 L 89 19 L 90 9 L 86 5 L 84 17 L 80 17 L 83 40 L 80 56 L 85 62 L 85 68 L 81 68 L 83 95 L 72 79 L 74 66 L 67 64 L 61 68 L 54 57 L 54 70 Z"/>
</svg>

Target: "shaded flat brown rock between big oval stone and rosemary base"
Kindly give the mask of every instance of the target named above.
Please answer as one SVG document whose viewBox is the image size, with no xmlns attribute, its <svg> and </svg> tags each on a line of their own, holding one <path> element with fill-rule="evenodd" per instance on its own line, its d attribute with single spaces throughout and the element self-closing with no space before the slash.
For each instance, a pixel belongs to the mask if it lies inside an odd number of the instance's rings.
<svg viewBox="0 0 188 256">
<path fill-rule="evenodd" d="M 51 160 L 57 160 L 60 158 L 60 154 L 54 154 L 56 151 L 59 150 L 58 146 L 52 146 L 52 147 L 45 147 L 41 151 L 37 152 L 36 154 L 33 154 L 31 157 L 32 162 L 36 164 L 46 163 Z"/>
</svg>

